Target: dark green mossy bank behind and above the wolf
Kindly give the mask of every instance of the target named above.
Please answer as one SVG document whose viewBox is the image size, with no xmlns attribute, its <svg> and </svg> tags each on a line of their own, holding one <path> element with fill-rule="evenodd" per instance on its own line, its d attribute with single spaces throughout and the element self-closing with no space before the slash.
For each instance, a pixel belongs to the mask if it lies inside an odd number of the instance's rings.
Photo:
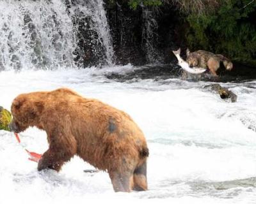
<svg viewBox="0 0 256 204">
<path fill-rule="evenodd" d="M 211 15 L 191 13 L 186 34 L 189 47 L 211 50 L 235 61 L 256 65 L 255 11 L 256 1 L 227 0 Z"/>
</svg>

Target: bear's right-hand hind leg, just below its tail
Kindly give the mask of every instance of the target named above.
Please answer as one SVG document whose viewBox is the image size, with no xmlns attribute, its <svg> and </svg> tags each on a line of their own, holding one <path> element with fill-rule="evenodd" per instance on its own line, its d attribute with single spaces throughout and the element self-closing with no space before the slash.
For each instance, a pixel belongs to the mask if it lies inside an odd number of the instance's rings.
<svg viewBox="0 0 256 204">
<path fill-rule="evenodd" d="M 133 173 L 133 190 L 134 191 L 146 191 L 148 189 L 147 184 L 147 161 L 141 166 L 138 166 Z"/>
</svg>

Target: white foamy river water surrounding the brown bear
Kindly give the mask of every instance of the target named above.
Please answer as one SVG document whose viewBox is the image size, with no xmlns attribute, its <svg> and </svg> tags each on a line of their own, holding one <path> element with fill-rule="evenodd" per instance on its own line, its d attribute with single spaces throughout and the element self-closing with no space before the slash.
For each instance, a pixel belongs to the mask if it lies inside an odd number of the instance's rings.
<svg viewBox="0 0 256 204">
<path fill-rule="evenodd" d="M 223 101 L 204 89 L 207 82 L 130 80 L 115 82 L 104 69 L 0 72 L 0 105 L 10 110 L 22 92 L 68 87 L 129 113 L 145 133 L 150 150 L 148 191 L 114 193 L 108 173 L 93 169 L 79 157 L 60 173 L 38 172 L 36 163 L 14 136 L 0 131 L 0 203 L 81 203 L 87 199 L 161 199 L 168 203 L 255 203 L 256 201 L 256 82 L 223 84 L 237 103 Z M 29 150 L 47 150 L 43 131 L 20 134 Z"/>
</svg>

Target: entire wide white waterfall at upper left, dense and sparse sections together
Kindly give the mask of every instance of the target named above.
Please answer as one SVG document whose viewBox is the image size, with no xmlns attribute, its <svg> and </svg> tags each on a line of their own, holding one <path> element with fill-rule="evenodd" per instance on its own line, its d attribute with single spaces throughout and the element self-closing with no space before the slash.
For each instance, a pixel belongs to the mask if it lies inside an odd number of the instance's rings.
<svg viewBox="0 0 256 204">
<path fill-rule="evenodd" d="M 0 1 L 0 70 L 77 66 L 74 59 L 80 46 L 77 33 L 81 28 L 77 29 L 74 19 L 83 17 L 92 18 L 90 29 L 97 33 L 93 40 L 103 49 L 102 64 L 113 64 L 103 2 L 84 3 L 72 3 L 68 11 L 67 1 L 63 0 Z"/>
</svg>

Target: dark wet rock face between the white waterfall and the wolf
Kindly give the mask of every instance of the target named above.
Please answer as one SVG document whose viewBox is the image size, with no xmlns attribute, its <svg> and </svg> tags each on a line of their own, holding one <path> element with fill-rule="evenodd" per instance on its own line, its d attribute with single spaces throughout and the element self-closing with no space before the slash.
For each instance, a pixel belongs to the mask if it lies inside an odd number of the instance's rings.
<svg viewBox="0 0 256 204">
<path fill-rule="evenodd" d="M 105 1 L 118 64 L 168 63 L 171 50 L 184 47 L 184 25 L 174 6 L 129 8 L 126 1 Z"/>
</svg>

